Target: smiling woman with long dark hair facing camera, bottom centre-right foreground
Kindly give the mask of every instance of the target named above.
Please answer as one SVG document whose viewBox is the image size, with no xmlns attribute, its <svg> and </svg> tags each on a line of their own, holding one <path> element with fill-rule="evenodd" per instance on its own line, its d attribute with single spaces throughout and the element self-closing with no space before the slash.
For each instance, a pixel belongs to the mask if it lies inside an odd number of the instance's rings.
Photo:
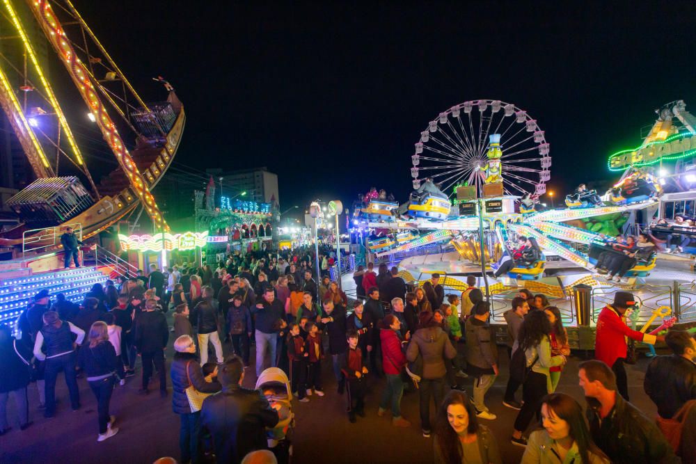
<svg viewBox="0 0 696 464">
<path fill-rule="evenodd" d="M 477 423 L 473 404 L 460 390 L 450 390 L 438 408 L 433 446 L 436 464 L 503 462 L 495 436 Z"/>
</svg>

